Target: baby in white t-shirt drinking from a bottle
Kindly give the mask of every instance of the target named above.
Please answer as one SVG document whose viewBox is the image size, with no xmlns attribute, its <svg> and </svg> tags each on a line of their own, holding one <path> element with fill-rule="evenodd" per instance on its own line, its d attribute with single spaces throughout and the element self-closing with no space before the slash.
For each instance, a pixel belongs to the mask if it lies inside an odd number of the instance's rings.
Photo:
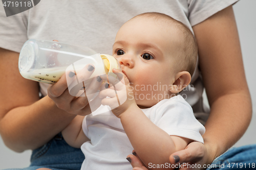
<svg viewBox="0 0 256 170">
<path fill-rule="evenodd" d="M 193 34 L 165 14 L 140 14 L 118 31 L 113 56 L 122 68 L 113 72 L 125 83 L 125 88 L 116 84 L 115 90 L 127 100 L 115 108 L 114 89 L 103 84 L 101 103 L 114 109 L 76 116 L 62 131 L 63 137 L 71 146 L 81 147 L 86 157 L 81 169 L 132 169 L 126 156 L 133 150 L 149 169 L 153 165 L 173 169 L 169 155 L 191 141 L 203 143 L 205 132 L 190 105 L 177 95 L 190 83 L 196 66 Z M 116 81 L 111 76 L 101 79 Z"/>
</svg>

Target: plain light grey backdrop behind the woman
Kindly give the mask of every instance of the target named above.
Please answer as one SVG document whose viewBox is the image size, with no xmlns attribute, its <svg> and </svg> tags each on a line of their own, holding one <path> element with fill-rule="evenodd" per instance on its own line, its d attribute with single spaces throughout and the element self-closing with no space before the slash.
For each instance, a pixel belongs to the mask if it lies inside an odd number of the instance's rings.
<svg viewBox="0 0 256 170">
<path fill-rule="evenodd" d="M 224 0 L 225 1 L 225 0 Z M 256 90 L 253 86 L 256 84 L 255 72 L 256 72 L 256 13 L 255 13 L 256 1 L 255 0 L 243 0 L 233 6 L 234 14 L 237 20 L 237 26 L 240 36 L 240 42 L 242 46 L 244 67 L 246 73 L 247 83 L 249 85 L 252 105 L 253 116 L 251 124 L 247 129 L 244 136 L 234 145 L 240 147 L 241 145 L 256 143 Z M 241 82 L 242 84 L 243 82 Z M 204 94 L 205 95 L 205 94 Z M 206 104 L 207 100 L 204 101 Z M 242 114 L 242 113 L 241 113 Z M 5 147 L 2 138 L 0 137 L 0 169 L 14 168 L 14 167 L 26 167 L 30 164 L 31 151 L 25 151 L 23 153 L 15 153 Z"/>
</svg>

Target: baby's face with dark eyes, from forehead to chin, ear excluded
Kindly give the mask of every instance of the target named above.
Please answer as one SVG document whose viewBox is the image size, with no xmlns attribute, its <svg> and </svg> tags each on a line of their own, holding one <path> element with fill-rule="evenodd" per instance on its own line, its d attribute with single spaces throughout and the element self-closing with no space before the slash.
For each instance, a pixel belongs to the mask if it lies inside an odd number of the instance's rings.
<svg viewBox="0 0 256 170">
<path fill-rule="evenodd" d="M 175 82 L 175 56 L 181 41 L 175 27 L 160 23 L 134 18 L 120 28 L 113 45 L 113 56 L 120 62 L 141 108 L 173 96 L 169 88 Z"/>
</svg>

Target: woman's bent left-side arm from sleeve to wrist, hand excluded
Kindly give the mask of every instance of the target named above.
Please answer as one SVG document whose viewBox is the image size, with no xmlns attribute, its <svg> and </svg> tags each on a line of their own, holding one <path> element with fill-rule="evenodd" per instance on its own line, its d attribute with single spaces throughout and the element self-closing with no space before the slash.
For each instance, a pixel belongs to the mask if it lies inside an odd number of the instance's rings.
<svg viewBox="0 0 256 170">
<path fill-rule="evenodd" d="M 39 100 L 38 83 L 19 74 L 18 55 L 0 48 L 0 133 L 7 147 L 23 152 L 45 144 L 75 115 L 48 96 Z"/>
</svg>

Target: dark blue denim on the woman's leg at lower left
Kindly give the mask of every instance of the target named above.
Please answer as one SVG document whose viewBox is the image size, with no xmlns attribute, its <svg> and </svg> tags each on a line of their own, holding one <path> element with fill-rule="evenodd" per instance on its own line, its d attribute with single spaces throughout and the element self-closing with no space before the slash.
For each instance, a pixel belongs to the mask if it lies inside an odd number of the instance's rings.
<svg viewBox="0 0 256 170">
<path fill-rule="evenodd" d="M 83 160 L 84 155 L 81 149 L 70 147 L 61 133 L 59 133 L 47 144 L 33 150 L 29 167 L 10 168 L 8 170 L 35 170 L 40 167 L 47 167 L 53 170 L 79 170 Z"/>
</svg>

